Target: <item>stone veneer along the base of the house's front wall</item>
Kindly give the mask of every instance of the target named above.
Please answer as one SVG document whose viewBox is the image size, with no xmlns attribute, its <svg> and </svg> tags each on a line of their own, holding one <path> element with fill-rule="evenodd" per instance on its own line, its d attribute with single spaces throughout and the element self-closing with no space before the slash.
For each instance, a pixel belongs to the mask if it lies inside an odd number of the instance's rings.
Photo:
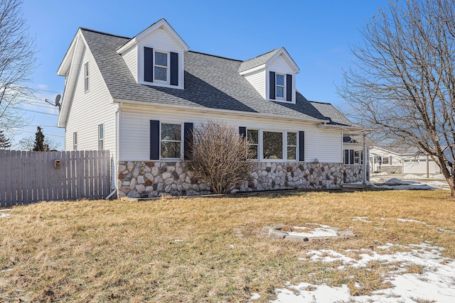
<svg viewBox="0 0 455 303">
<path fill-rule="evenodd" d="M 234 192 L 274 189 L 335 189 L 363 180 L 362 165 L 308 162 L 258 162 Z M 152 198 L 212 194 L 208 184 L 187 171 L 183 162 L 120 161 L 118 196 Z"/>
</svg>

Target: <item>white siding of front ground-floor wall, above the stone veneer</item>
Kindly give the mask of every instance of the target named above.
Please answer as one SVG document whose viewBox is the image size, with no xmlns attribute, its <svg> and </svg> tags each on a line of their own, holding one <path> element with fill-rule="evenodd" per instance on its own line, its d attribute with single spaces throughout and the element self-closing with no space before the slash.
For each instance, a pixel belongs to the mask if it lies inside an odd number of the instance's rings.
<svg viewBox="0 0 455 303">
<path fill-rule="evenodd" d="M 305 132 L 304 153 L 306 162 L 342 162 L 342 132 L 333 128 L 317 128 L 316 123 L 298 123 L 286 119 L 262 119 L 239 114 L 200 113 L 188 109 L 156 109 L 153 106 L 124 104 L 122 107 L 119 160 L 146 161 L 150 157 L 150 120 L 166 123 L 193 122 L 198 127 L 209 119 L 224 121 L 232 126 L 245 126 L 267 131 Z M 284 138 L 285 140 L 285 138 Z M 286 160 L 283 160 L 286 161 Z"/>
</svg>

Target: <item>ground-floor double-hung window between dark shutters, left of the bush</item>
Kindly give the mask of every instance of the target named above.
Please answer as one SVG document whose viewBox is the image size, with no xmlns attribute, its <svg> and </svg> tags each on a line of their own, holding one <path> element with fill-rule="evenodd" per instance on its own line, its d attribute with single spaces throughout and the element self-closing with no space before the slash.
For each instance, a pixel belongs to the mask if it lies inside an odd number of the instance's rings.
<svg viewBox="0 0 455 303">
<path fill-rule="evenodd" d="M 161 123 L 161 158 L 182 158 L 182 125 Z"/>
</svg>

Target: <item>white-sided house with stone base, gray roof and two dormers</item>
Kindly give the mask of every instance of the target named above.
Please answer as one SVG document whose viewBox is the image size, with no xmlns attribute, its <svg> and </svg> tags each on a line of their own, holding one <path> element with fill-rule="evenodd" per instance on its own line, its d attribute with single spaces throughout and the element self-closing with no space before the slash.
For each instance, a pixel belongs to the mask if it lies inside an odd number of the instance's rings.
<svg viewBox="0 0 455 303">
<path fill-rule="evenodd" d="M 245 61 L 191 51 L 164 19 L 134 38 L 79 28 L 58 68 L 58 126 L 65 150 L 111 151 L 119 197 L 209 193 L 182 162 L 188 134 L 208 119 L 239 128 L 257 150 L 236 191 L 362 180 L 357 153 L 343 162 L 343 136 L 359 128 L 306 100 L 299 71 L 284 48 Z"/>
</svg>

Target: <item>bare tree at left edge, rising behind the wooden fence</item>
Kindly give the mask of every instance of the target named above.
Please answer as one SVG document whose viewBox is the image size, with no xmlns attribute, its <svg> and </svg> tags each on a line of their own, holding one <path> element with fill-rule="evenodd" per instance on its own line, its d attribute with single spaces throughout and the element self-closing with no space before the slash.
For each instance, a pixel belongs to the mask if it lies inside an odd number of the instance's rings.
<svg viewBox="0 0 455 303">
<path fill-rule="evenodd" d="M 0 128 L 24 126 L 28 122 L 21 104 L 33 100 L 26 86 L 36 67 L 35 41 L 27 31 L 20 0 L 0 0 Z"/>
</svg>

